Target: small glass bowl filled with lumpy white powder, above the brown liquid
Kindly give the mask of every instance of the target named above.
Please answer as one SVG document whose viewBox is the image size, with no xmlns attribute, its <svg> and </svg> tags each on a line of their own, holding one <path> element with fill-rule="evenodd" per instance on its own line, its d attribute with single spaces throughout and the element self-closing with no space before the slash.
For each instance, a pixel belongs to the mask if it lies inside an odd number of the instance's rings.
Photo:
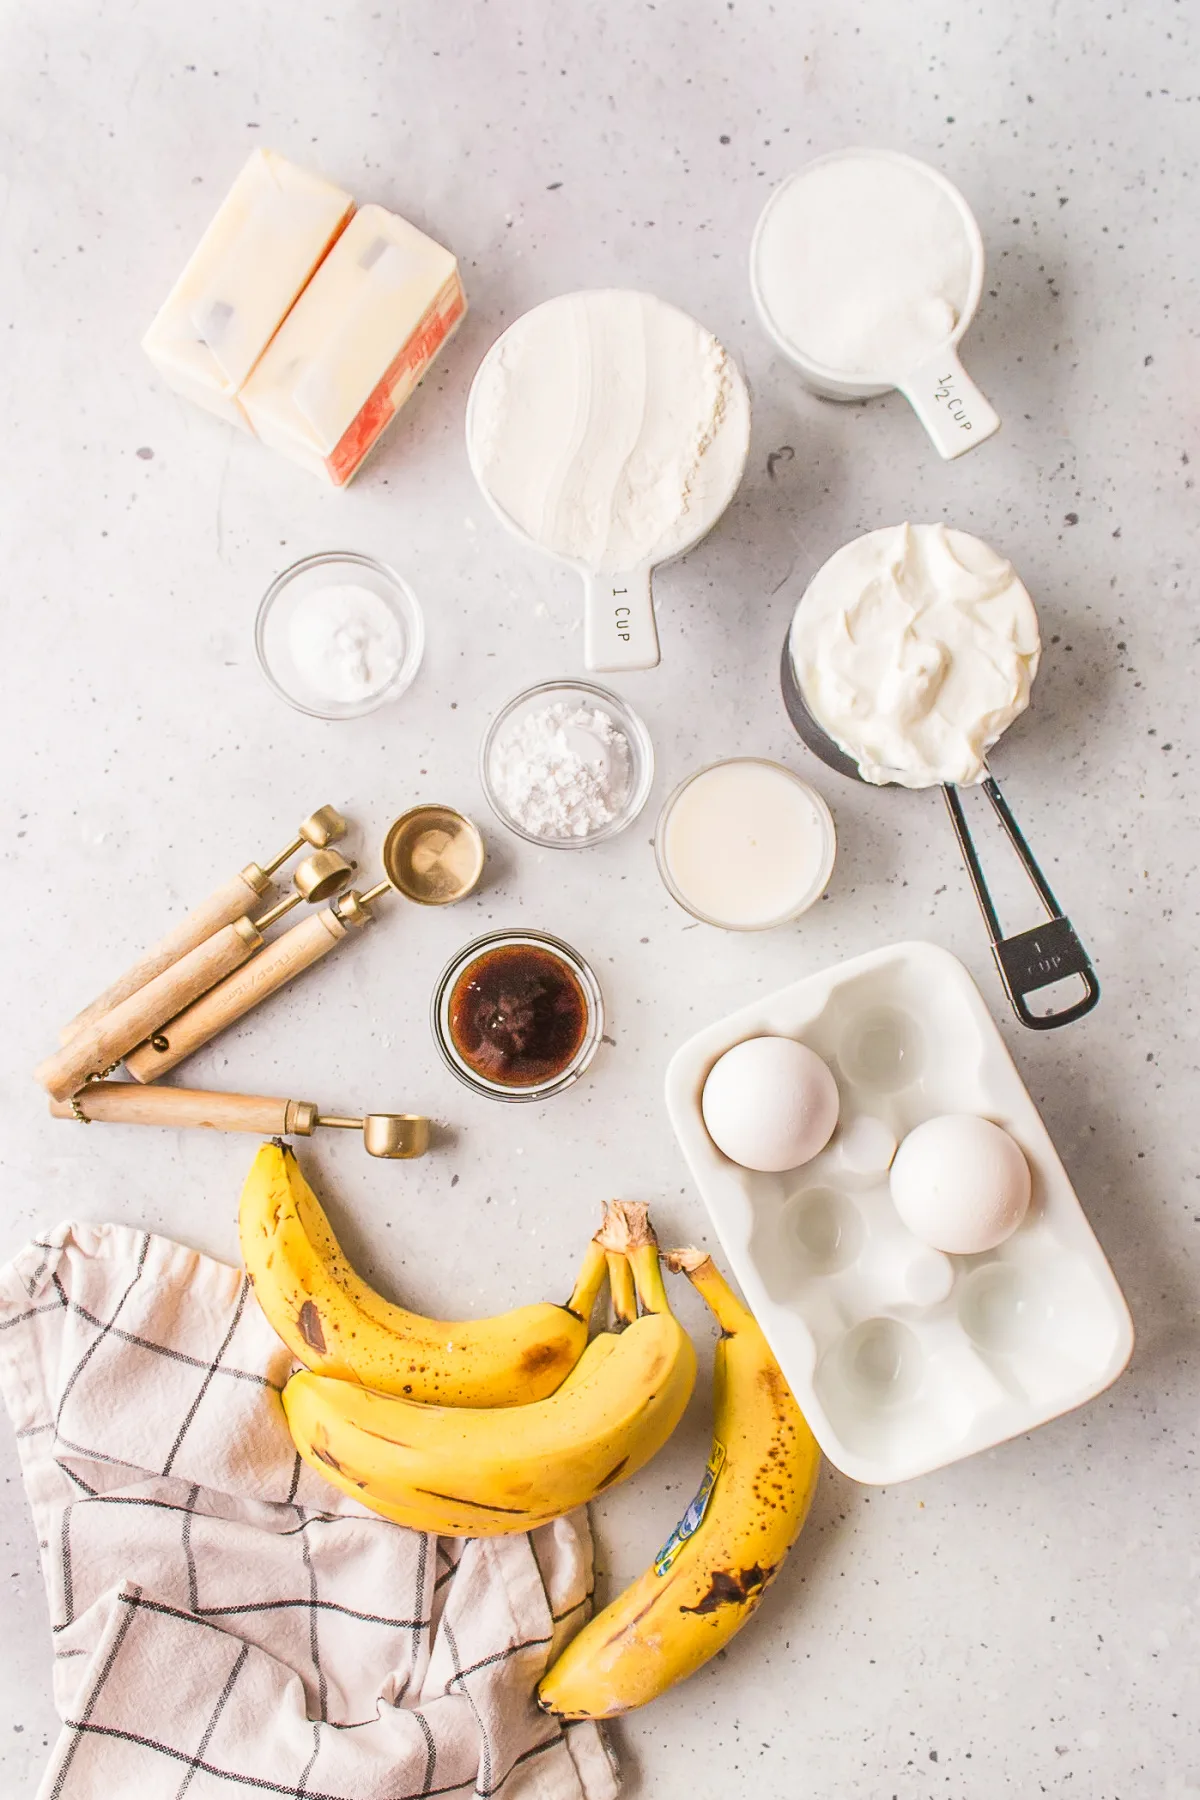
<svg viewBox="0 0 1200 1800">
<path fill-rule="evenodd" d="M 619 695 L 587 680 L 547 680 L 497 713 L 479 772 L 509 832 L 529 844 L 583 850 L 637 819 L 653 787 L 655 751 Z"/>
</svg>

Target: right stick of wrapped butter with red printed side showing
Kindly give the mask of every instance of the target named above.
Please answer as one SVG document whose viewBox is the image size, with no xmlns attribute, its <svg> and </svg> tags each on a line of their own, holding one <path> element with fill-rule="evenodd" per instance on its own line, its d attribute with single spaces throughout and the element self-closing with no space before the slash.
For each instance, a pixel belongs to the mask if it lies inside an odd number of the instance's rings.
<svg viewBox="0 0 1200 1800">
<path fill-rule="evenodd" d="M 243 387 L 250 428 L 345 486 L 464 313 L 450 250 L 362 207 Z"/>
</svg>

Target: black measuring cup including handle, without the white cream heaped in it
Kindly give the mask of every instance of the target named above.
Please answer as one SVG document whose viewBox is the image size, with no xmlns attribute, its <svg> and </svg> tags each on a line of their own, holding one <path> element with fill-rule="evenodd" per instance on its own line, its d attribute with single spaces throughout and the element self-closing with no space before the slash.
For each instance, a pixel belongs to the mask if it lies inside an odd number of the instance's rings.
<svg viewBox="0 0 1200 1800">
<path fill-rule="evenodd" d="M 819 756 L 822 763 L 835 769 L 840 776 L 849 776 L 851 781 L 862 781 L 864 778 L 858 772 L 855 758 L 847 756 L 846 751 L 833 742 L 828 731 L 817 724 L 808 709 L 808 702 L 801 693 L 801 684 L 795 679 L 795 668 L 792 666 L 790 630 L 783 641 L 779 684 L 783 688 L 783 704 L 788 709 L 788 718 L 795 725 L 801 742 L 808 745 L 813 756 Z M 993 774 L 988 774 L 981 787 L 991 801 L 991 810 L 1004 826 L 1004 833 L 1016 851 L 1020 866 L 1029 877 L 1034 893 L 1047 913 L 1043 925 L 1034 925 L 1031 931 L 1020 931 L 1013 938 L 1006 938 L 1000 931 L 1000 920 L 997 918 L 997 909 L 991 902 L 991 895 L 988 893 L 988 882 L 984 880 L 982 864 L 966 823 L 966 814 L 963 812 L 959 790 L 950 783 L 943 783 L 941 792 L 950 812 L 959 850 L 963 851 L 963 860 L 966 862 L 966 873 L 972 878 L 972 887 L 975 889 L 975 898 L 979 900 L 979 911 L 984 914 L 984 923 L 988 925 L 991 954 L 995 958 L 997 970 L 1000 972 L 1000 981 L 1004 983 L 1009 1004 L 1020 1022 L 1029 1026 L 1031 1031 L 1052 1031 L 1060 1024 L 1070 1024 L 1072 1019 L 1083 1019 L 1083 1015 L 1096 1006 L 1099 999 L 1099 981 L 1096 979 L 1087 950 L 1076 936 L 1074 925 L 1060 907 L 1051 891 L 1051 884 L 1038 868 L 1034 855 L 1025 842 L 1016 819 L 1013 817 L 1009 803 L 1000 792 L 1000 783 Z M 1083 979 L 1081 999 L 1074 1001 L 1070 1006 L 1063 1006 L 1060 1012 L 1034 1013 L 1029 1010 L 1031 994 L 1036 994 L 1040 988 L 1049 988 L 1056 981 L 1065 981 L 1069 976 L 1079 976 Z"/>
</svg>

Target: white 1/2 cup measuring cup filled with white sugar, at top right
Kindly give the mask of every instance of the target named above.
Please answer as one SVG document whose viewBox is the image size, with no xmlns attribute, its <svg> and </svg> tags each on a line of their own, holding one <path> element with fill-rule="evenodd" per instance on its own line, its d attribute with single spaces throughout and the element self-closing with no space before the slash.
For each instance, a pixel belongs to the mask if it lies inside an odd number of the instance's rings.
<svg viewBox="0 0 1200 1800">
<path fill-rule="evenodd" d="M 817 157 L 766 202 L 750 245 L 759 319 L 826 400 L 900 389 L 939 455 L 1000 416 L 959 360 L 984 284 L 984 243 L 957 187 L 894 149 Z"/>
</svg>

